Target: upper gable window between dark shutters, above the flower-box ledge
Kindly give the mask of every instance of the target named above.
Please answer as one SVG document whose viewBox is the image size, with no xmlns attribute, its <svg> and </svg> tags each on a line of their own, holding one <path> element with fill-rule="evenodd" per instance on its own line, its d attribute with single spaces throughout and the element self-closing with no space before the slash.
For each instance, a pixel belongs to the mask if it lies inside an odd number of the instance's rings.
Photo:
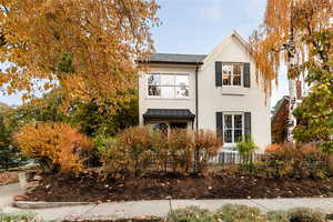
<svg viewBox="0 0 333 222">
<path fill-rule="evenodd" d="M 222 63 L 222 82 L 223 85 L 242 85 L 243 64 L 241 63 Z"/>
</svg>

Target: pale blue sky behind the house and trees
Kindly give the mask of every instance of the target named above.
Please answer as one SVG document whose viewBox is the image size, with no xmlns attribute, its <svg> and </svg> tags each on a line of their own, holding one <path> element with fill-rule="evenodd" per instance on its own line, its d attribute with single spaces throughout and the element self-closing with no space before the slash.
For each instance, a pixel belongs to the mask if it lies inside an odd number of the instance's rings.
<svg viewBox="0 0 333 222">
<path fill-rule="evenodd" d="M 152 30 L 158 52 L 210 53 L 236 30 L 248 39 L 262 22 L 266 0 L 158 0 L 162 24 Z M 273 90 L 272 105 L 287 94 L 285 69 L 279 89 Z M 20 104 L 20 94 L 0 95 L 0 102 Z"/>
</svg>

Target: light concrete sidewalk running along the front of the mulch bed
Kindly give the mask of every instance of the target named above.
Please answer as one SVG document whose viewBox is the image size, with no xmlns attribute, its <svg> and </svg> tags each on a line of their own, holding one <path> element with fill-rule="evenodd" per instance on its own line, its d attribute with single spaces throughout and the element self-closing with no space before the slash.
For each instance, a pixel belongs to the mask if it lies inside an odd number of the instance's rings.
<svg viewBox="0 0 333 222">
<path fill-rule="evenodd" d="M 226 204 L 246 204 L 260 208 L 263 212 L 270 210 L 287 210 L 292 208 L 305 206 L 317 209 L 326 213 L 333 213 L 333 198 L 314 198 L 314 199 L 253 199 L 253 200 L 172 200 L 171 208 L 180 209 L 189 205 L 198 205 L 211 211 Z M 14 208 L 3 208 L 4 212 L 20 211 Z M 47 221 L 61 221 L 63 219 L 130 219 L 138 216 L 165 216 L 170 211 L 168 200 L 160 201 L 130 201 L 112 202 L 81 206 L 64 206 L 53 209 L 31 210 L 38 213 Z"/>
</svg>

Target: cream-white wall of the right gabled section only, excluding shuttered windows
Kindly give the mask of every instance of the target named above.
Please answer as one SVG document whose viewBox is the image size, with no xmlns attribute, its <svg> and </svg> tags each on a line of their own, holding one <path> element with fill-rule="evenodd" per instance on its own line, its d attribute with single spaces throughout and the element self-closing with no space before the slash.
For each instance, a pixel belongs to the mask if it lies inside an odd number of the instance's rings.
<svg viewBox="0 0 333 222">
<path fill-rule="evenodd" d="M 215 87 L 215 61 L 250 62 L 251 88 Z M 205 59 L 199 72 L 199 128 L 215 130 L 215 112 L 251 112 L 254 142 L 262 151 L 271 143 L 270 99 L 265 101 L 256 82 L 255 67 L 239 40 L 228 38 Z"/>
</svg>

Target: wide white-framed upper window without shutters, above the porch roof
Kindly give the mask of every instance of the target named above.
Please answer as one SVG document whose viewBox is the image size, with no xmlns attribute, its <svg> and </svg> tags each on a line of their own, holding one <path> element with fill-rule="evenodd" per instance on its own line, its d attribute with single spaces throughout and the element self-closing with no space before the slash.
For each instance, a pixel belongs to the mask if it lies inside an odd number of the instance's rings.
<svg viewBox="0 0 333 222">
<path fill-rule="evenodd" d="M 188 98 L 188 74 L 148 74 L 148 95 L 154 98 Z"/>
</svg>

